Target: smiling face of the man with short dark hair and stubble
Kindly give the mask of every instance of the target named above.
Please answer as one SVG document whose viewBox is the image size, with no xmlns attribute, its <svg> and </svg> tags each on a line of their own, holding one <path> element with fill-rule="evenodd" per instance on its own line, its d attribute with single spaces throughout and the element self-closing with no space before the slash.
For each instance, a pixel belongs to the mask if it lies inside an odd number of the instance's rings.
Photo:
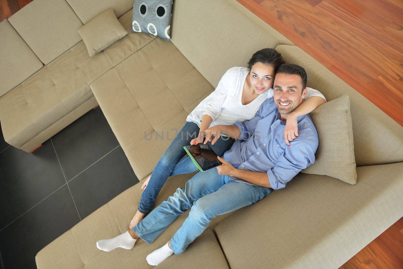
<svg viewBox="0 0 403 269">
<path fill-rule="evenodd" d="M 305 98 L 307 89 L 302 89 L 302 79 L 297 74 L 278 73 L 274 78 L 273 100 L 282 120 L 293 111 Z M 302 94 L 301 94 L 302 93 Z"/>
</svg>

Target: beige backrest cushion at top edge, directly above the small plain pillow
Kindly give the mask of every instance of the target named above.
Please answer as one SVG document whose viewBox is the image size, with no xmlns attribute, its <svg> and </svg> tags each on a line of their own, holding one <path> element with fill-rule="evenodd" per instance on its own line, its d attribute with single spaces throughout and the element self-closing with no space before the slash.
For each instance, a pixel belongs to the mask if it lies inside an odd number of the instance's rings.
<svg viewBox="0 0 403 269">
<path fill-rule="evenodd" d="M 118 18 L 133 8 L 133 0 L 67 0 L 67 2 L 84 24 L 108 8 L 113 8 Z"/>
</svg>

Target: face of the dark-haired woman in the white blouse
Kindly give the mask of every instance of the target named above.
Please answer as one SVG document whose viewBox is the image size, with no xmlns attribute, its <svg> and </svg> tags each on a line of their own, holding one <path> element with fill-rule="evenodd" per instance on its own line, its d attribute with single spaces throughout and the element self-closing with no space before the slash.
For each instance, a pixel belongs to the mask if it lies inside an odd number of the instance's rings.
<svg viewBox="0 0 403 269">
<path fill-rule="evenodd" d="M 251 67 L 249 78 L 255 93 L 262 94 L 273 86 L 274 67 L 256 62 Z"/>
</svg>

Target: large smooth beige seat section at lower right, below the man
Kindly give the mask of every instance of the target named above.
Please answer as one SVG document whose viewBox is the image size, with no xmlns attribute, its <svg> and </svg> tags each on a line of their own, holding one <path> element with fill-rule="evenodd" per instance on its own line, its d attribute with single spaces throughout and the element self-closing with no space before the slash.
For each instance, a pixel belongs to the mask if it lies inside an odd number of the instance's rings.
<svg viewBox="0 0 403 269">
<path fill-rule="evenodd" d="M 357 176 L 350 185 L 299 173 L 219 223 L 230 267 L 341 267 L 402 216 L 403 163 L 357 167 Z"/>
</svg>

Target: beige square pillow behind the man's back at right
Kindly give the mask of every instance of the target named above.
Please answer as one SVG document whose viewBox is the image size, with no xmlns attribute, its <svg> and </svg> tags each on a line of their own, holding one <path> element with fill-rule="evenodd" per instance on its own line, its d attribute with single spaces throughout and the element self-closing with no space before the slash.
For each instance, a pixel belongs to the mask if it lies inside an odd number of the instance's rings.
<svg viewBox="0 0 403 269">
<path fill-rule="evenodd" d="M 356 184 L 349 96 L 345 94 L 328 101 L 309 115 L 318 131 L 319 146 L 315 162 L 301 172 L 331 176 L 349 184 Z"/>
</svg>

